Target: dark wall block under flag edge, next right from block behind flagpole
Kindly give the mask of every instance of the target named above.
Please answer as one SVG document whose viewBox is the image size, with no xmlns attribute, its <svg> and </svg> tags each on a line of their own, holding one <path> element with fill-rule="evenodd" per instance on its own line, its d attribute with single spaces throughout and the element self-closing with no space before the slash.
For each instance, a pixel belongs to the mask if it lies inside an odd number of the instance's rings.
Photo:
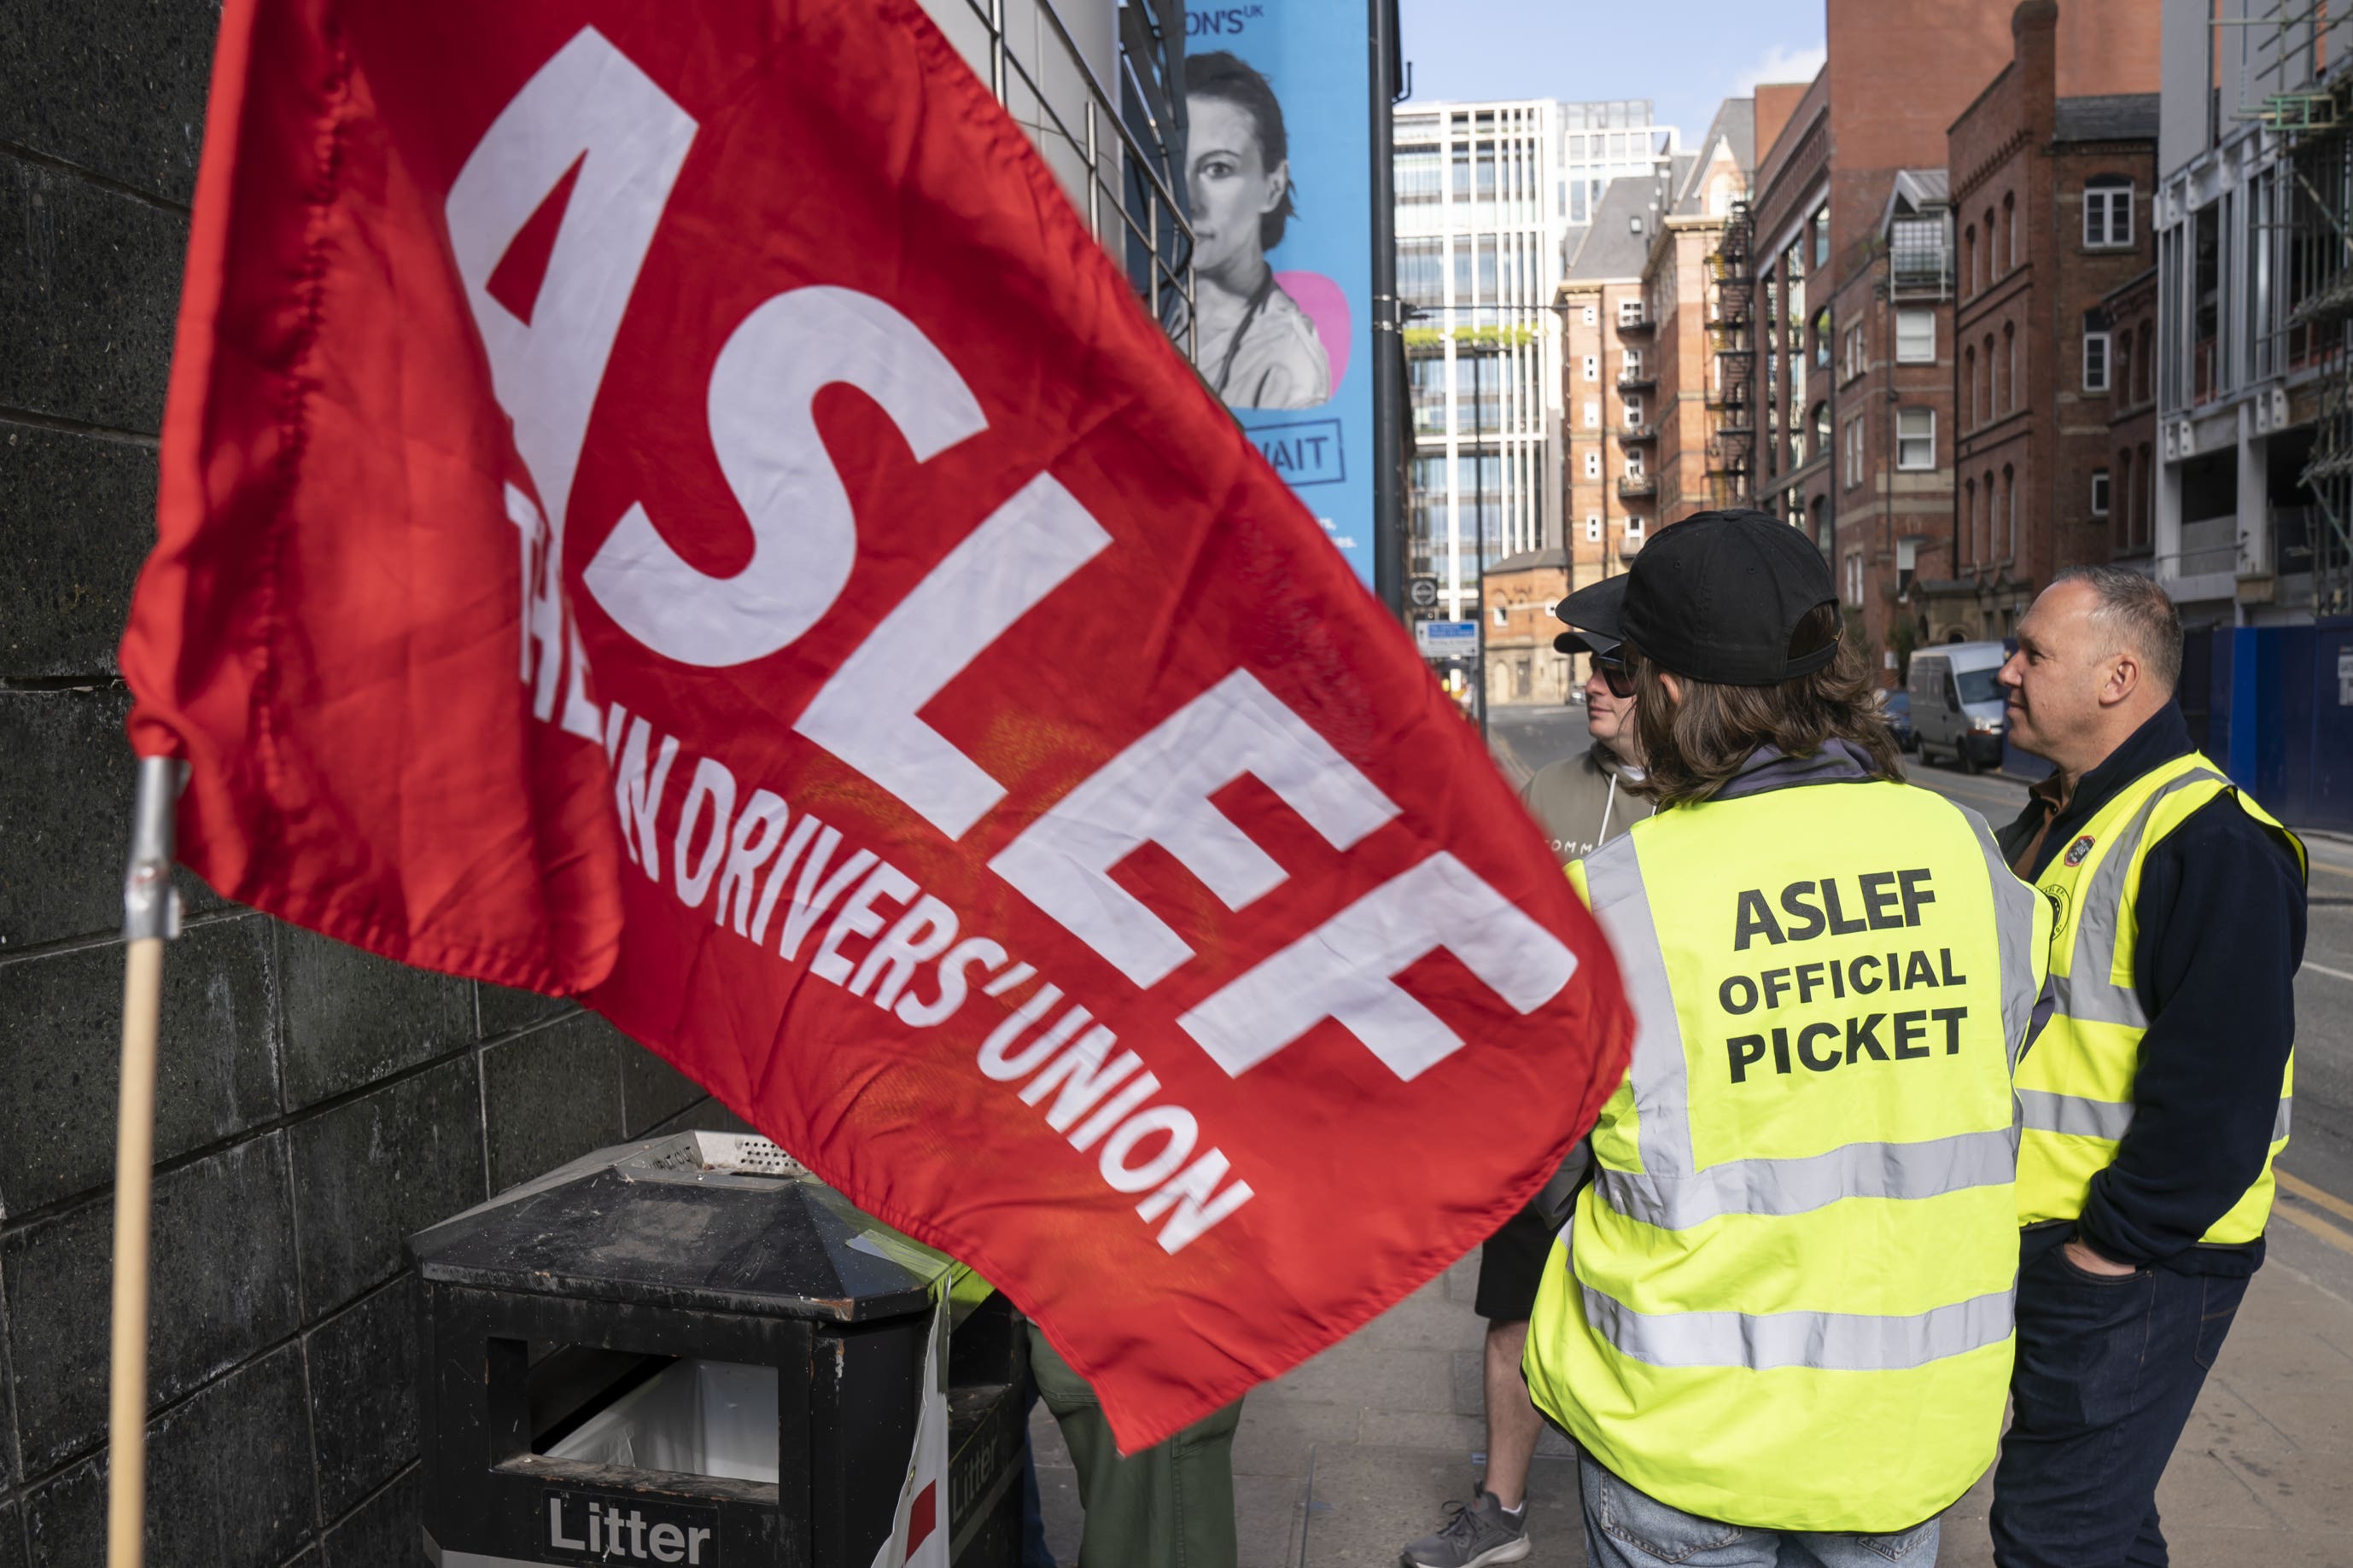
<svg viewBox="0 0 2353 1568">
<path fill-rule="evenodd" d="M 278 926 L 287 1110 L 365 1088 L 473 1041 L 466 980 Z"/>
</svg>

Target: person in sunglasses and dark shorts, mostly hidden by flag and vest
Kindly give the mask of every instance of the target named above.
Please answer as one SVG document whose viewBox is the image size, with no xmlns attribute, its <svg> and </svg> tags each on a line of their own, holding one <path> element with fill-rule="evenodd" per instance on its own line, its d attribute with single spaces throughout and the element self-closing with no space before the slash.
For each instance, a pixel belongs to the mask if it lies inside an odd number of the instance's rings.
<svg viewBox="0 0 2353 1568">
<path fill-rule="evenodd" d="M 1614 576 L 1602 581 L 1598 592 L 1614 609 L 1624 590 L 1626 578 Z M 1631 823 L 1649 816 L 1652 806 L 1635 792 L 1642 785 L 1642 769 L 1633 750 L 1633 672 L 1619 656 L 1617 637 L 1560 632 L 1553 646 L 1591 656 L 1593 675 L 1586 677 L 1591 745 L 1537 769 L 1520 799 L 1544 827 L 1553 856 L 1567 865 L 1626 832 Z M 1527 1401 L 1520 1352 L 1527 1345 L 1527 1314 L 1537 1305 L 1544 1258 L 1553 1251 L 1553 1232 L 1560 1229 L 1560 1215 L 1588 1164 L 1586 1145 L 1577 1145 L 1544 1192 L 1480 1248 L 1473 1307 L 1487 1319 L 1487 1474 L 1471 1488 L 1471 1502 L 1447 1505 L 1452 1514 L 1435 1535 L 1424 1535 L 1405 1549 L 1407 1568 L 1492 1568 L 1518 1563 L 1532 1549 L 1527 1469 L 1544 1420 Z"/>
</svg>

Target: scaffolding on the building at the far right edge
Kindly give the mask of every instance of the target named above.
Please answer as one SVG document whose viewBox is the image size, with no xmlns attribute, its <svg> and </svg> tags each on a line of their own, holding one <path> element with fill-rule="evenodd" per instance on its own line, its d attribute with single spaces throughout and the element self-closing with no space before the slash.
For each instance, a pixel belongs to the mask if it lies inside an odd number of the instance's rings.
<svg viewBox="0 0 2353 1568">
<path fill-rule="evenodd" d="M 2247 0 L 2252 9 L 2259 0 Z M 2334 14 L 2332 7 L 2334 5 Z M 2264 369 L 2311 371 L 2313 449 L 2299 475 L 2313 505 L 2273 517 L 2275 564 L 2311 562 L 2313 616 L 2353 614 L 2353 28 L 2346 0 L 2273 0 L 2259 16 L 2217 19 L 2245 28 L 2245 108 L 2278 148 L 2280 179 L 2257 221 L 2282 247 L 2282 296 Z M 2219 94 L 2217 94 L 2219 99 Z M 2318 527 L 2313 527 L 2318 522 Z"/>
</svg>

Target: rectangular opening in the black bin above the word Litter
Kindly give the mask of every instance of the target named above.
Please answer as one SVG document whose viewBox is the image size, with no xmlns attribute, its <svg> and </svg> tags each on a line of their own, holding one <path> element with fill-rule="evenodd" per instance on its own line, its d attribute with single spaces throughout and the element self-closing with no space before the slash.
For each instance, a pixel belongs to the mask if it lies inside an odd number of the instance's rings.
<svg viewBox="0 0 2353 1568">
<path fill-rule="evenodd" d="M 560 1345 L 532 1359 L 529 1399 L 551 1460 L 776 1483 L 774 1366 Z"/>
</svg>

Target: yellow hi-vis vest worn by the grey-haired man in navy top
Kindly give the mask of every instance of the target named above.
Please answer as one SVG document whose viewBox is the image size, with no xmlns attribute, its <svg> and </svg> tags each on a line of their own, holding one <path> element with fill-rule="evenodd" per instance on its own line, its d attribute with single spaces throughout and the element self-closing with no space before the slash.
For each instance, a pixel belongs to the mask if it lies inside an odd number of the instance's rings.
<svg viewBox="0 0 2353 1568">
<path fill-rule="evenodd" d="M 2306 867 L 2304 842 L 2231 788 L 2224 771 L 2191 752 L 2148 769 L 2099 809 L 2040 877 L 2059 910 L 2052 940 L 2052 1018 L 2019 1063 L 2019 1225 L 2073 1220 L 2092 1178 L 2115 1159 L 2132 1126 L 2132 1081 L 2141 1065 L 2148 1013 L 2132 985 L 2132 950 L 2141 922 L 2141 865 L 2148 851 L 2217 795 L 2231 795 L 2257 823 L 2280 835 Z M 2202 1241 L 2254 1241 L 2271 1218 L 2271 1164 L 2287 1147 L 2287 1103 L 2297 1058 L 2280 1079 L 2280 1114 L 2271 1126 L 2264 1173 Z"/>
</svg>

